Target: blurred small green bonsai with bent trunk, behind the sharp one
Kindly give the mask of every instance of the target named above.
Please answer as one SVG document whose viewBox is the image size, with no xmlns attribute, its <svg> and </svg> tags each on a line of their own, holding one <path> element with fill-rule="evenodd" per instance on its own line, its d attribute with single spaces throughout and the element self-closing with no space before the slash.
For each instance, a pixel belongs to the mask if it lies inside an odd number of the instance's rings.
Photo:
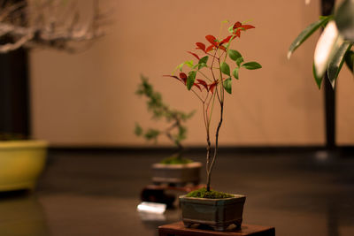
<svg viewBox="0 0 354 236">
<path fill-rule="evenodd" d="M 135 134 L 142 136 L 147 141 L 158 141 L 158 136 L 165 135 L 178 148 L 178 152 L 173 156 L 164 159 L 163 164 L 186 164 L 192 162 L 187 158 L 182 158 L 183 146 L 181 141 L 187 138 L 187 127 L 183 125 L 189 118 L 193 116 L 195 111 L 185 113 L 181 110 L 171 109 L 162 100 L 162 95 L 154 90 L 149 82 L 149 79 L 141 76 L 141 84 L 136 90 L 136 95 L 144 96 L 148 110 L 152 113 L 152 118 L 160 120 L 165 118 L 168 124 L 164 130 L 147 128 L 142 129 L 142 126 L 135 124 Z"/>
</svg>

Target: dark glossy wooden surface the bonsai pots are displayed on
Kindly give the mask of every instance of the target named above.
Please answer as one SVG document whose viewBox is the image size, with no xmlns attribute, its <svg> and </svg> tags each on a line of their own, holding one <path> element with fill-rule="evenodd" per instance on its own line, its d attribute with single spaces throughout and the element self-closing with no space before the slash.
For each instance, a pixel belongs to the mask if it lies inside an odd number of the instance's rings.
<svg viewBox="0 0 354 236">
<path fill-rule="evenodd" d="M 0 235 L 158 235 L 180 209 L 151 217 L 136 206 L 150 164 L 165 156 L 51 151 L 34 193 L 0 194 Z M 204 152 L 188 156 L 204 161 Z M 243 222 L 274 226 L 276 235 L 354 235 L 354 156 L 221 151 L 212 187 L 247 195 Z"/>
</svg>

